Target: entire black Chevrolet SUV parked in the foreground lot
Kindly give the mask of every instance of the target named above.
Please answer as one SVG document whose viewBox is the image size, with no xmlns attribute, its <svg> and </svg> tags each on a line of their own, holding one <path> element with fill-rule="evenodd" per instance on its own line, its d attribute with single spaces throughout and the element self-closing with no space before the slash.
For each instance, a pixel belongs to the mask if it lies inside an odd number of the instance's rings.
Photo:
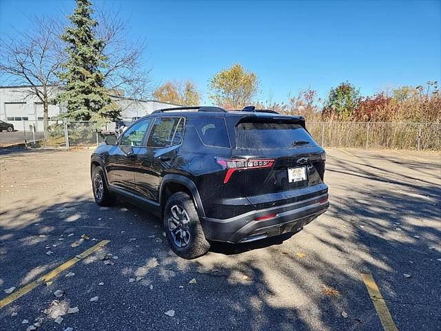
<svg viewBox="0 0 441 331">
<path fill-rule="evenodd" d="M 186 259 L 209 241 L 244 243 L 297 232 L 329 206 L 325 150 L 305 119 L 246 107 L 156 110 L 91 159 L 96 203 L 116 196 L 163 219 Z"/>
</svg>

